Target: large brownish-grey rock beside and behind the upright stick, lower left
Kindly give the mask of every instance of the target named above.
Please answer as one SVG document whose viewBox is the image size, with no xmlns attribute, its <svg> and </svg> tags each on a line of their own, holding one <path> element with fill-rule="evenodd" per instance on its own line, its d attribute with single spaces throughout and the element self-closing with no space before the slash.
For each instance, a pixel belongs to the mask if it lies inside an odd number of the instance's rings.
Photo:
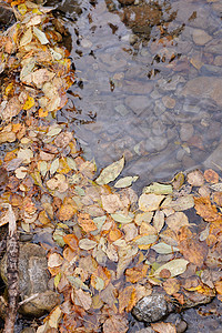
<svg viewBox="0 0 222 333">
<path fill-rule="evenodd" d="M 20 312 L 24 315 L 41 316 L 60 303 L 59 294 L 49 290 L 46 251 L 37 245 L 27 243 L 20 245 L 19 254 L 19 292 L 23 301 L 38 293 L 32 301 L 23 304 Z M 1 261 L 1 278 L 7 283 L 7 255 Z"/>
</svg>

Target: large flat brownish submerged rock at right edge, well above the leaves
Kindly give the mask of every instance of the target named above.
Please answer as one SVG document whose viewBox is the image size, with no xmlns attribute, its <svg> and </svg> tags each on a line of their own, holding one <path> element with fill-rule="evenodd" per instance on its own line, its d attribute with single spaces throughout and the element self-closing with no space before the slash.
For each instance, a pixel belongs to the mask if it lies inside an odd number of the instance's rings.
<svg viewBox="0 0 222 333">
<path fill-rule="evenodd" d="M 222 79 L 214 77 L 198 77 L 190 80 L 182 90 L 182 95 L 198 99 L 210 98 L 218 105 L 222 105 L 221 97 Z"/>
</svg>

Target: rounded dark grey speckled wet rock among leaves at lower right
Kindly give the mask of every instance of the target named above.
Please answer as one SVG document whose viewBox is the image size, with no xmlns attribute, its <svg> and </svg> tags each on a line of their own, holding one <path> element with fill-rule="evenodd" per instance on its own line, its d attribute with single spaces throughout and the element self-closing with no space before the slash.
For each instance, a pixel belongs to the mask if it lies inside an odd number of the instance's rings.
<svg viewBox="0 0 222 333">
<path fill-rule="evenodd" d="M 163 294 L 154 293 L 141 299 L 132 310 L 132 314 L 140 322 L 153 323 L 162 320 L 173 311 L 173 305 L 168 303 Z"/>
</svg>

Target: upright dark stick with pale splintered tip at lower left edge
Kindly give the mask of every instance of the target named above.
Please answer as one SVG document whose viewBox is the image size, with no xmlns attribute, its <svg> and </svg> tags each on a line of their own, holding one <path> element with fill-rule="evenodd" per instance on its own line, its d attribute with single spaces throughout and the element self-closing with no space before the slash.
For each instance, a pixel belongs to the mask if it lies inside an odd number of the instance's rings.
<svg viewBox="0 0 222 333">
<path fill-rule="evenodd" d="M 7 239 L 7 279 L 9 305 L 3 333 L 13 333 L 19 295 L 19 238 L 17 233 L 17 222 L 13 210 L 10 204 L 4 204 L 4 206 L 9 209 L 9 235 Z"/>
</svg>

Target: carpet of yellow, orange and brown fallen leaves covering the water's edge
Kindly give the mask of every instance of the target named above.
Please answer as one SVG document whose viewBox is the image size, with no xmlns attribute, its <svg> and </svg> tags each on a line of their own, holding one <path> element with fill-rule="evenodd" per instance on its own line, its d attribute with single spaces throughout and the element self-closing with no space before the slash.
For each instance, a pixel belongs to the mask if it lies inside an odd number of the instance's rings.
<svg viewBox="0 0 222 333">
<path fill-rule="evenodd" d="M 29 1 L 14 12 L 17 24 L 0 34 L 0 204 L 11 204 L 20 232 L 52 234 L 54 245 L 42 246 L 63 294 L 37 332 L 127 332 L 128 313 L 155 290 L 181 309 L 215 295 L 222 301 L 219 174 L 179 173 L 139 198 L 131 188 L 138 176 L 120 176 L 124 157 L 97 176 L 74 133 L 53 119 L 73 82 L 59 46 L 64 31 Z M 164 325 L 152 324 L 157 332 Z"/>
</svg>

